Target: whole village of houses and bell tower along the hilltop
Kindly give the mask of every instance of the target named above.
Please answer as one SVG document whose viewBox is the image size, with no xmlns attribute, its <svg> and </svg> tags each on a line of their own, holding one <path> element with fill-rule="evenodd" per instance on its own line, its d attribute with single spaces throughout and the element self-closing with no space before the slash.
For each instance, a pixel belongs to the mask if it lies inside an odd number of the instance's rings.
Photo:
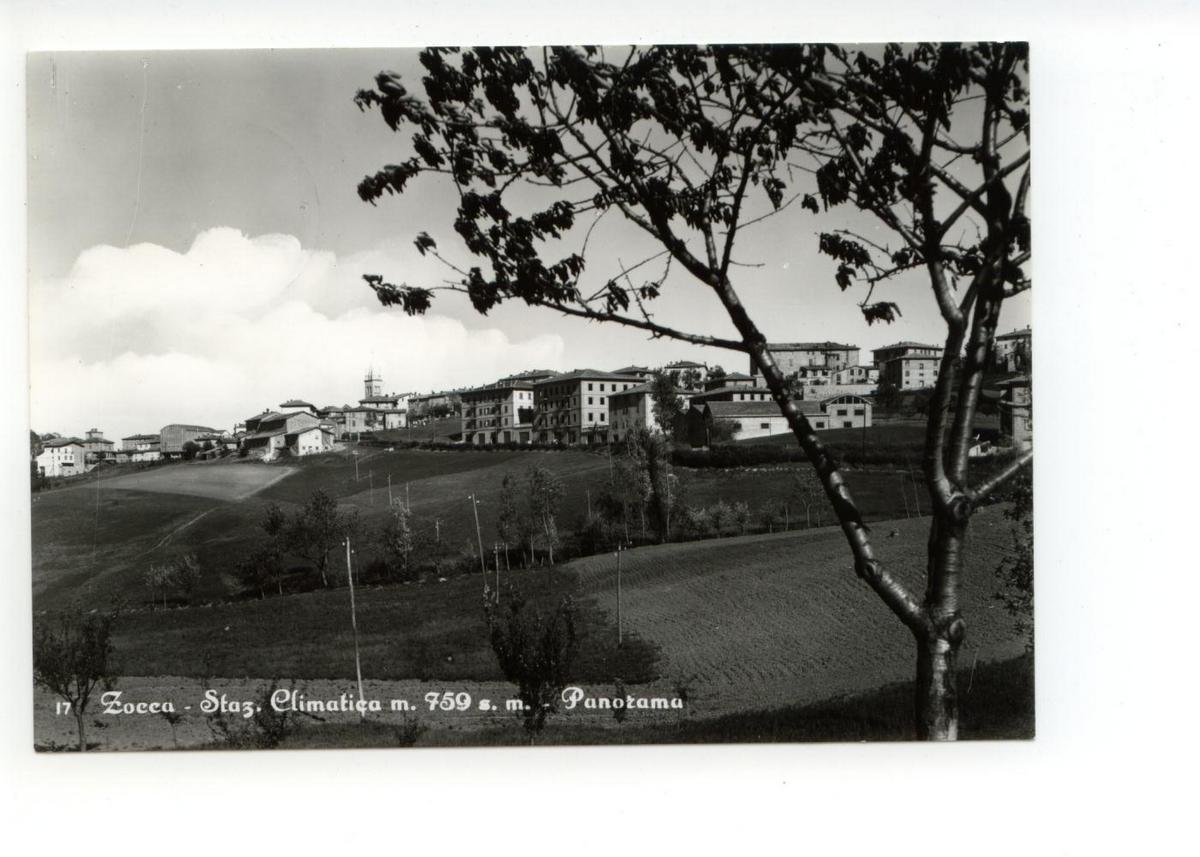
<svg viewBox="0 0 1200 857">
<path fill-rule="evenodd" d="M 1032 442 L 1031 344 L 1030 326 L 996 337 L 998 376 L 989 390 L 998 400 L 1001 433 L 1022 448 Z M 869 427 L 883 398 L 894 402 L 931 389 L 942 359 L 940 346 L 907 341 L 874 349 L 870 364 L 862 362 L 858 346 L 839 342 L 769 343 L 768 349 L 816 431 Z M 232 430 L 169 424 L 124 437 L 120 445 L 98 428 L 89 428 L 83 438 L 41 435 L 31 450 L 34 475 L 68 478 L 107 463 L 302 457 L 344 441 L 437 420 L 451 424 L 448 441 L 476 447 L 619 443 L 638 430 L 656 430 L 656 377 L 668 378 L 682 400 L 677 431 L 695 447 L 714 437 L 737 442 L 787 433 L 787 420 L 752 360 L 749 370 L 726 372 L 691 360 L 655 368 L 528 370 L 480 386 L 419 395 L 385 394 L 383 378 L 371 368 L 362 379 L 362 397 L 353 406 L 289 398 Z"/>
</svg>

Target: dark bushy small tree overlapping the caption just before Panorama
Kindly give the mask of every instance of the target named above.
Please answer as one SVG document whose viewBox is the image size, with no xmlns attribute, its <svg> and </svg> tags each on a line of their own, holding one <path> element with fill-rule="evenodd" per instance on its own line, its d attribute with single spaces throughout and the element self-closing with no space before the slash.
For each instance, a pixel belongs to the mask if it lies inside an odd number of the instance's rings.
<svg viewBox="0 0 1200 857">
<path fill-rule="evenodd" d="M 517 685 L 520 712 L 529 743 L 558 711 L 577 653 L 575 607 L 564 599 L 539 607 L 515 593 L 503 605 L 485 599 L 492 651 L 504 677 Z"/>
</svg>

